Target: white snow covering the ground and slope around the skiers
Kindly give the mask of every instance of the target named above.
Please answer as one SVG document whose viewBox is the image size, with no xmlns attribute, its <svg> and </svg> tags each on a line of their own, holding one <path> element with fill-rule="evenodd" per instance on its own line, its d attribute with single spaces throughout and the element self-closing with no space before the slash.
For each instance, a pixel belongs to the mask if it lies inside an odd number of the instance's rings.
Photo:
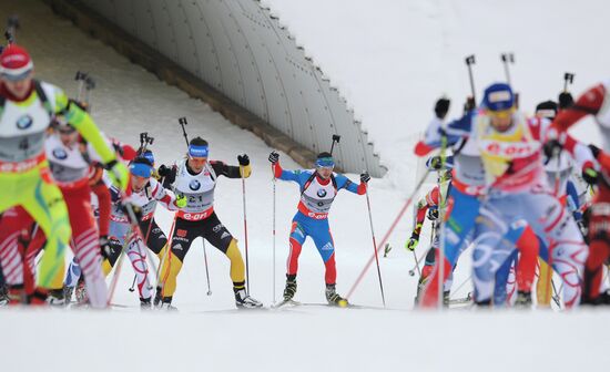
<svg viewBox="0 0 610 372">
<path fill-rule="evenodd" d="M 467 7 L 466 2 L 336 0 L 323 3 L 316 0 L 307 3 L 312 9 L 317 9 L 317 13 L 302 9 L 303 19 L 299 20 L 296 12 L 288 16 L 291 9 L 297 9 L 296 6 L 288 6 L 293 3 L 273 1 L 274 7 L 285 6 L 279 10 L 282 19 L 288 22 L 291 30 L 294 25 L 298 40 L 314 54 L 333 81 L 339 84 L 342 92 L 347 94 L 356 112 L 365 118 L 382 156 L 393 167 L 388 177 L 370 183 L 373 217 L 379 241 L 404 203 L 405 195 L 413 187 L 409 182 L 415 172 L 408 166 L 413 167 L 416 162 L 409 148 L 416 133 L 428 120 L 434 99 L 438 92 L 447 92 L 460 101 L 458 97 L 467 92 L 466 86 L 461 85 L 466 82 L 461 65 L 461 56 L 467 53 L 464 50 L 476 52 L 479 56 L 480 81 L 484 78 L 500 79 L 501 65 L 495 59 L 496 53 L 504 50 L 492 50 L 495 45 L 488 43 L 498 39 L 501 32 L 495 27 L 498 24 L 494 21 L 497 14 L 500 11 L 507 11 L 514 17 L 519 14 L 522 21 L 510 21 L 508 24 L 526 25 L 535 21 L 536 17 L 530 12 L 540 13 L 545 8 L 538 2 L 528 3 L 528 11 L 520 11 L 526 4 L 519 1 L 515 6 L 509 6 L 512 2 L 490 1 L 499 7 L 494 9 L 482 0 L 471 1 L 472 8 Z M 583 8 L 588 7 L 584 6 L 587 1 L 582 3 Z M 378 8 L 374 8 L 374 4 Z M 343 10 L 340 14 L 335 12 L 339 9 Z M 474 11 L 476 9 L 479 10 Z M 367 10 L 366 17 L 362 14 L 364 10 Z M 561 7 L 558 11 L 568 13 Z M 212 158 L 236 163 L 240 153 L 251 156 L 253 176 L 247 179 L 251 291 L 266 304 L 271 303 L 272 277 L 275 273 L 276 297 L 279 297 L 289 223 L 295 213 L 298 192 L 296 185 L 277 184 L 277 259 L 274 266 L 272 175 L 266 159 L 272 148 L 252 133 L 231 125 L 200 101 L 191 100 L 183 92 L 157 81 L 112 49 L 87 37 L 70 22 L 55 18 L 41 2 L 9 0 L 0 3 L 0 20 L 12 12 L 20 14 L 22 31 L 18 40 L 30 49 L 41 79 L 64 87 L 70 94 L 75 94 L 73 76 L 78 70 L 87 71 L 96 79 L 98 89 L 92 96 L 93 116 L 109 135 L 136 145 L 139 133 L 149 132 L 155 137 L 152 148 L 157 163 L 170 163 L 184 152 L 177 118 L 185 116 L 190 136 L 201 135 L 210 141 Z M 545 32 L 553 37 L 561 35 L 558 32 L 563 32 L 562 27 L 551 22 L 553 14 L 545 12 L 545 17 L 539 17 L 537 28 L 550 28 Z M 352 51 L 337 52 L 336 61 L 324 60 L 324 55 L 327 55 L 324 46 L 307 39 L 313 37 L 307 37 L 307 28 L 299 25 L 299 22 L 315 24 L 323 31 L 325 25 L 319 21 L 327 17 L 334 20 L 335 29 L 340 28 L 342 32 L 329 32 L 326 29 L 328 34 L 325 38 L 333 40 L 335 35 L 343 34 L 342 42 L 335 46 L 352 46 Z M 390 17 L 389 20 L 387 17 Z M 479 18 L 480 28 L 489 29 L 496 37 L 472 39 L 472 44 L 476 42 L 478 45 L 476 49 L 459 46 L 472 37 L 477 28 L 472 24 L 476 17 Z M 362 30 L 352 24 L 354 19 Z M 591 28 L 599 27 L 593 23 Z M 384 25 L 385 32 L 384 38 L 379 39 L 380 25 Z M 365 32 L 365 29 L 369 32 Z M 557 42 L 553 41 L 546 51 L 530 43 L 533 37 L 523 39 L 529 32 L 531 29 L 523 29 L 516 31 L 519 38 L 506 35 L 507 45 L 498 46 L 517 53 L 515 81 L 523 92 L 523 104 L 531 105 L 539 95 L 547 97 L 555 94 L 561 85 L 565 69 L 577 72 L 577 86 L 581 89 L 594 82 L 603 72 L 603 58 L 599 55 L 591 61 L 570 53 L 568 62 L 571 61 L 573 65 L 563 66 L 551 59 L 559 55 L 556 51 Z M 576 38 L 573 29 L 565 33 Z M 397 51 L 388 38 L 404 39 L 405 50 Z M 566 42 L 575 44 L 573 39 Z M 370 49 L 374 45 L 375 49 Z M 523 51 L 518 49 L 526 45 Z M 578 44 L 575 48 L 586 46 Z M 328 46 L 328 50 L 332 49 Z M 359 51 L 359 56 L 355 54 L 356 51 Z M 420 58 L 414 62 L 413 55 L 416 54 Z M 540 55 L 546 56 L 539 59 Z M 394 56 L 400 59 L 394 60 Z M 549 62 L 545 62 L 547 56 Z M 338 61 L 342 59 L 345 73 L 332 66 L 332 63 L 340 63 Z M 345 63 L 345 60 L 362 63 L 359 73 L 356 63 Z M 589 61 L 590 68 L 584 69 Z M 581 64 L 577 65 L 577 62 Z M 541 69 L 541 63 L 550 63 L 551 68 Z M 552 72 L 555 68 L 557 71 Z M 533 89 L 537 80 L 531 74 L 536 71 L 541 74 L 539 81 L 545 91 Z M 389 84 L 392 76 L 394 82 Z M 396 82 L 401 81 L 405 82 L 396 85 Z M 551 84 L 555 81 L 557 84 Z M 367 87 L 372 93 L 365 95 L 362 92 Z M 453 113 L 457 114 L 456 106 Z M 282 163 L 286 168 L 296 167 L 285 155 Z M 349 176 L 357 179 L 357 175 Z M 242 186 L 238 180 L 218 182 L 215 209 L 241 240 L 243 250 Z M 169 230 L 171 215 L 159 210 L 156 217 L 161 227 Z M 333 207 L 331 224 L 337 247 L 338 290 L 345 293 L 373 250 L 365 198 L 342 194 Z M 608 342 L 603 327 L 598 323 L 603 324 L 608 320 L 607 312 L 487 314 L 455 310 L 426 314 L 408 311 L 416 288 L 416 278 L 407 273 L 414 265 L 413 256 L 403 249 L 409 232 L 410 221 L 406 219 L 390 238 L 395 247 L 390 257 L 380 259 L 387 306 L 396 310 L 325 307 L 251 313 L 227 310 L 233 309 L 227 260 L 207 245 L 213 291 L 207 297 L 203 250 L 201 241 L 197 241 L 191 248 L 179 277 L 174 300 L 180 309 L 177 313 L 141 313 L 136 296 L 128 291 L 132 276 L 126 265 L 113 301 L 121 307 L 112 311 L 1 311 L 0 332 L 8 337 L 0 337 L 0 350 L 2 355 L 10 355 L 2 359 L 2 370 L 50 368 L 166 371 L 207 368 L 214 371 L 372 371 L 475 368 L 509 371 L 525 366 L 573 370 L 599 365 L 593 358 L 603 355 L 602 348 Z M 424 246 L 421 244 L 419 249 Z M 311 242 L 306 244 L 299 264 L 297 299 L 322 302 L 323 265 Z M 456 272 L 456 285 L 467 279 L 468 268 L 466 258 L 460 261 Z M 468 287 L 455 296 L 464 296 Z M 375 270 L 369 271 L 350 300 L 359 304 L 380 306 Z"/>
</svg>

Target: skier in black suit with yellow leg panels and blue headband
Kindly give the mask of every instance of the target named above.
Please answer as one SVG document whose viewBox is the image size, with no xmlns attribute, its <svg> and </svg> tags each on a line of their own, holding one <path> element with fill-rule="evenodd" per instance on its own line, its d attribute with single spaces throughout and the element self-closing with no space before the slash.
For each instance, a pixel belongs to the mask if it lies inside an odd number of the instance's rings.
<svg viewBox="0 0 610 372">
<path fill-rule="evenodd" d="M 187 158 L 171 168 L 161 166 L 159 175 L 165 177 L 164 186 L 172 187 L 176 196 L 186 197 L 186 207 L 182 208 L 171 231 L 172 242 L 169 257 L 163 262 L 160 286 L 155 296 L 155 306 L 171 308 L 176 288 L 176 277 L 192 241 L 202 237 L 210 241 L 231 260 L 231 280 L 238 308 L 260 308 L 263 304 L 246 293 L 245 267 L 237 240 L 218 220 L 214 211 L 214 188 L 216 178 L 247 178 L 251 174 L 250 158 L 240 155 L 240 166 L 230 166 L 222 162 L 207 161 L 207 142 L 196 137 L 189 144 Z"/>
</svg>

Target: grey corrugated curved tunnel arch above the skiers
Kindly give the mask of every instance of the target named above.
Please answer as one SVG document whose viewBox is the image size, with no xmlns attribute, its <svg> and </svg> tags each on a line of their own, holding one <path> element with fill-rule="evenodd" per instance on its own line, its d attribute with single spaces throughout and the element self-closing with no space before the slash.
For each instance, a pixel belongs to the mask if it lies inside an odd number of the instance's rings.
<svg viewBox="0 0 610 372">
<path fill-rule="evenodd" d="M 68 17 L 67 9 L 70 8 L 73 12 L 71 18 L 80 22 L 81 27 L 82 12 L 89 12 L 89 20 L 84 23 L 89 24 L 91 33 L 102 39 L 104 37 L 101 33 L 109 29 L 106 24 L 104 31 L 102 23 L 104 20 L 110 21 L 164 59 L 143 55 L 150 53 L 142 51 L 142 45 L 136 51 L 130 51 L 134 43 L 113 40 L 116 35 L 105 35 L 106 42 L 122 43 L 122 46 L 114 46 L 126 50 L 125 54 L 134 62 L 155 71 L 162 79 L 207 103 L 206 96 L 214 96 L 214 91 L 221 92 L 216 94 L 220 97 L 216 99 L 218 105 L 212 104 L 215 110 L 233 122 L 240 121 L 235 116 L 254 115 L 256 118 L 248 116 L 250 124 L 236 124 L 260 132 L 257 134 L 267 143 L 287 152 L 301 164 L 311 165 L 314 154 L 328 151 L 332 135 L 338 134 L 342 141 L 335 147 L 334 155 L 340 169 L 353 173 L 368 169 L 374 176 L 385 173 L 373 151 L 373 144 L 354 120 L 354 113 L 347 108 L 339 92 L 305 56 L 303 48 L 296 45 L 288 30 L 258 1 L 47 2 L 55 9 L 61 8 L 63 11 L 60 12 Z M 98 14 L 104 20 L 99 19 Z M 92 28 L 91 23 L 99 24 Z M 176 74 L 175 69 L 171 68 L 173 63 L 182 68 L 186 75 Z M 204 96 L 197 92 L 202 86 L 207 91 Z M 246 113 L 234 113 L 244 108 Z"/>
</svg>

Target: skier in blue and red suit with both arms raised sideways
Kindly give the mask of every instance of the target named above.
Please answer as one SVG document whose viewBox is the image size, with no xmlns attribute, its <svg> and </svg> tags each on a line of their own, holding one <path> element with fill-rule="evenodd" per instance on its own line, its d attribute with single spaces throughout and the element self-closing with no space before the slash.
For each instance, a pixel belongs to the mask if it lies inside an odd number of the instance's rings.
<svg viewBox="0 0 610 372">
<path fill-rule="evenodd" d="M 360 184 L 356 185 L 344 175 L 334 173 L 335 162 L 329 153 L 321 153 L 317 156 L 315 169 L 284 170 L 279 165 L 279 154 L 276 152 L 270 154 L 270 162 L 275 178 L 294 180 L 301 188 L 298 210 L 293 218 L 291 229 L 291 252 L 284 300 L 291 301 L 296 293 L 298 256 L 305 239 L 311 237 L 326 267 L 326 300 L 329 304 L 345 306 L 346 300 L 335 289 L 337 277 L 335 244 L 328 226 L 328 211 L 333 200 L 343 188 L 354 194 L 364 195 L 370 176 L 368 173 L 360 174 Z"/>
</svg>

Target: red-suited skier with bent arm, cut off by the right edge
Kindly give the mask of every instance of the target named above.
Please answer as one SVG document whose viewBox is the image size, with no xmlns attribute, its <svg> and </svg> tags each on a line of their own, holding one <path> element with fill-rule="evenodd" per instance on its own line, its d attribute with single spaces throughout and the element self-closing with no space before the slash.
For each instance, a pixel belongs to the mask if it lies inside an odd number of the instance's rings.
<svg viewBox="0 0 610 372">
<path fill-rule="evenodd" d="M 589 221 L 589 257 L 584 265 L 582 303 L 610 303 L 610 293 L 600 296 L 602 265 L 610 256 L 610 80 L 599 83 L 582 93 L 573 105 L 557 115 L 552 127 L 567 131 L 581 118 L 592 115 L 603 137 L 603 151 L 591 146 L 600 172 L 589 169 L 589 176 L 598 179 Z M 552 136 L 550 136 L 552 138 Z M 550 144 L 563 142 L 563 135 Z M 570 143 L 563 144 L 569 147 Z M 568 148 L 569 149 L 569 148 Z"/>
</svg>

